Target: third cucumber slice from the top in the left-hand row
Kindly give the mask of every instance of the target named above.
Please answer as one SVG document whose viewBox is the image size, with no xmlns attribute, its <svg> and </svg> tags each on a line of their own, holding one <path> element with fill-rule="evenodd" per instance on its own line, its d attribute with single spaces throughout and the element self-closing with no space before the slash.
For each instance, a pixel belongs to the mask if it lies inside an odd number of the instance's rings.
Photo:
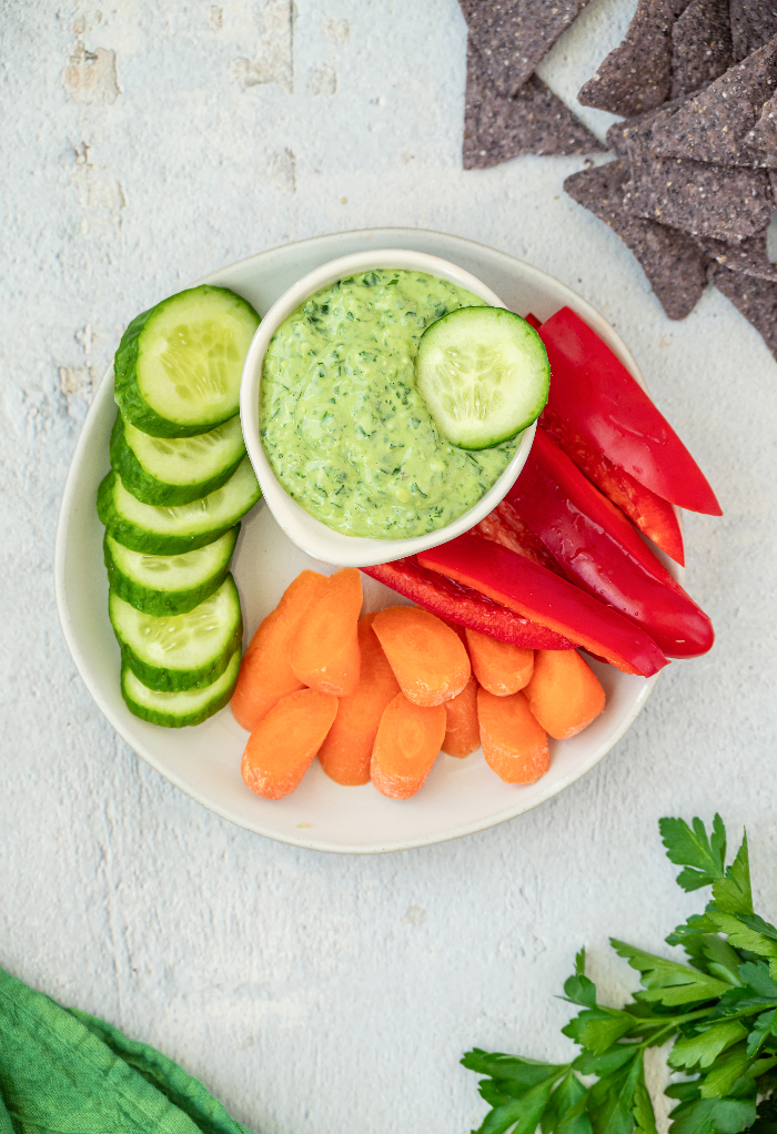
<svg viewBox="0 0 777 1134">
<path fill-rule="evenodd" d="M 247 457 L 216 492 L 177 508 L 141 503 L 111 472 L 98 489 L 98 515 L 111 539 L 125 548 L 152 556 L 179 556 L 213 543 L 261 494 Z"/>
</svg>

